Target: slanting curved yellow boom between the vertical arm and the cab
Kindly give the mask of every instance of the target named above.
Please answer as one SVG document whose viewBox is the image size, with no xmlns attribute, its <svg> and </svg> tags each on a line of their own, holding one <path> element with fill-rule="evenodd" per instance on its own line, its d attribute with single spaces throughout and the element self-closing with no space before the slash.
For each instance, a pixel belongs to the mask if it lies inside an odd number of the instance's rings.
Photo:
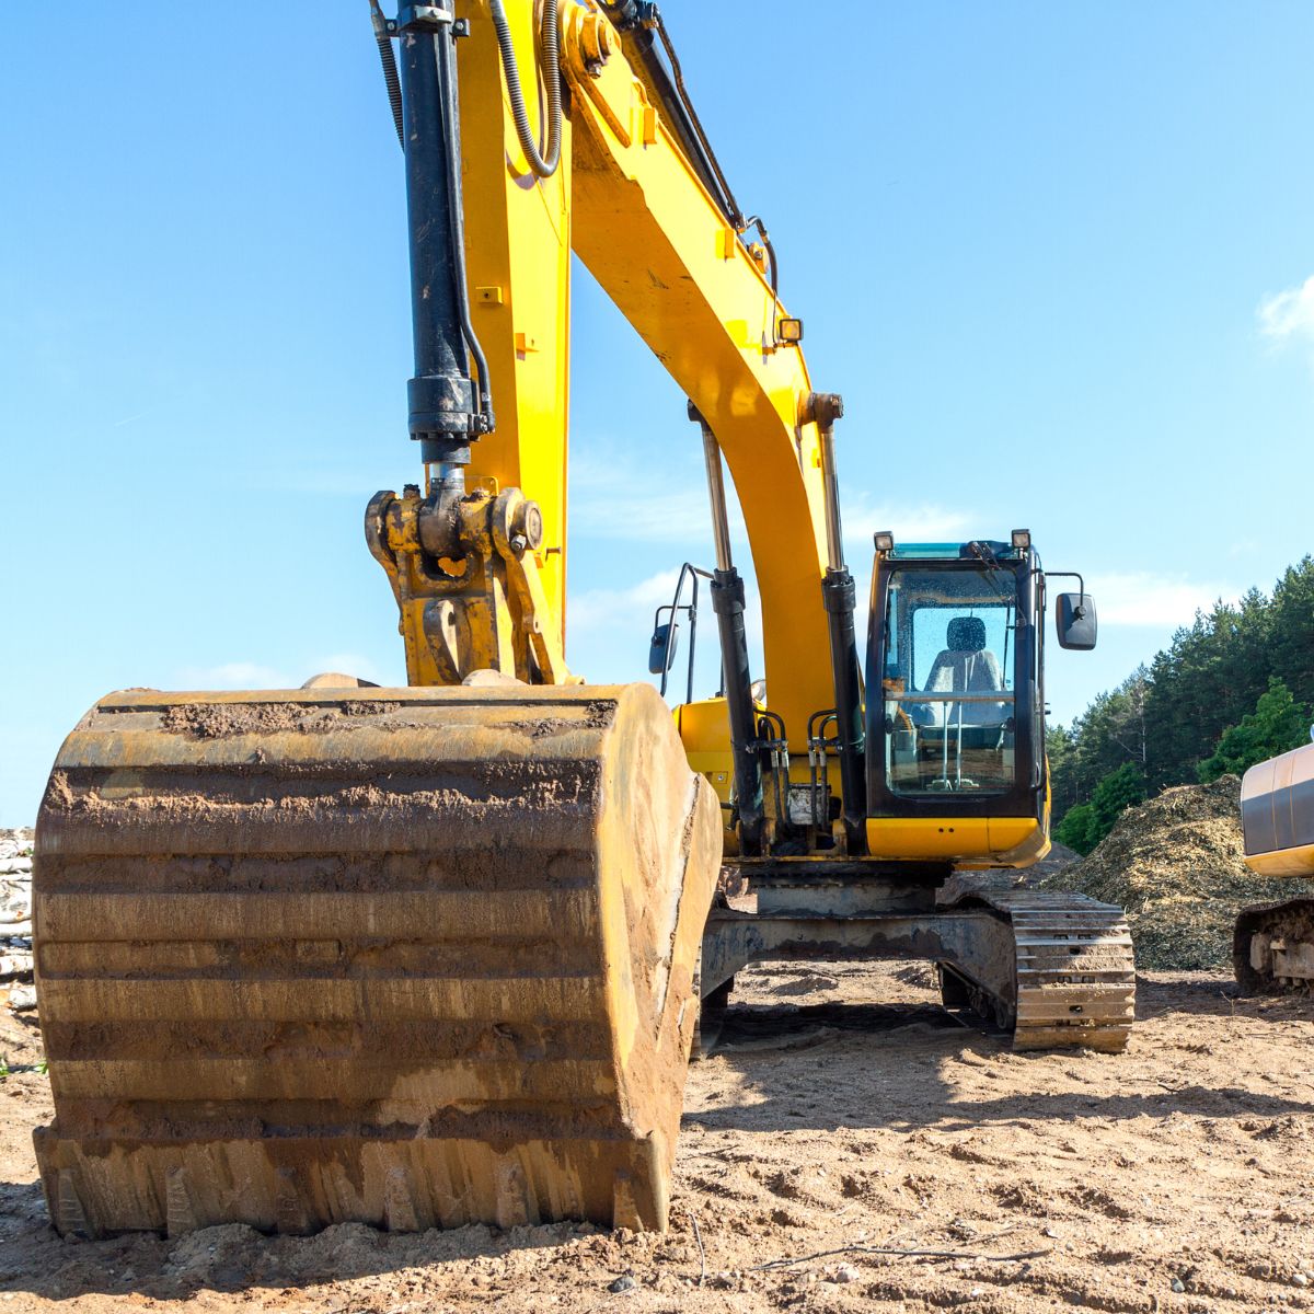
<svg viewBox="0 0 1314 1314">
<path fill-rule="evenodd" d="M 796 346 L 774 346 L 782 311 L 761 267 L 627 62 L 612 55 L 595 75 L 586 67 L 582 26 L 606 22 L 594 8 L 565 11 L 573 246 L 725 453 L 762 598 L 767 704 L 802 740 L 808 716 L 834 702 L 817 432 L 799 423 L 807 364 Z M 673 432 L 681 423 L 673 406 Z"/>
</svg>

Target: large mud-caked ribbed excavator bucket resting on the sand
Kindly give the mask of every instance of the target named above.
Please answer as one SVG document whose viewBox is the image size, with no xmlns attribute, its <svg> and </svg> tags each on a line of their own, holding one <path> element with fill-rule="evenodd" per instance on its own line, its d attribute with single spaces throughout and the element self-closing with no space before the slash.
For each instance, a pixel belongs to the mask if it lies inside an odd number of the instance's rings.
<svg viewBox="0 0 1314 1314">
<path fill-rule="evenodd" d="M 102 699 L 37 828 L 55 1226 L 664 1227 L 720 832 L 645 685 Z"/>
</svg>

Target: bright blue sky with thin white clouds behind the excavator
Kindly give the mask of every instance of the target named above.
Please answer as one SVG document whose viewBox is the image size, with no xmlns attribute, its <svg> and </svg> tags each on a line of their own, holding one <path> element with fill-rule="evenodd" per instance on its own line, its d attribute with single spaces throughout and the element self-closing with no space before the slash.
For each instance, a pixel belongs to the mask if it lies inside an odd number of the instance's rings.
<svg viewBox="0 0 1314 1314">
<path fill-rule="evenodd" d="M 813 377 L 845 394 L 855 574 L 872 528 L 1029 526 L 1101 610 L 1096 653 L 1051 650 L 1067 719 L 1311 549 L 1314 7 L 662 8 Z M 231 4 L 191 34 L 121 7 L 54 47 L 39 7 L 3 24 L 17 825 L 109 690 L 399 679 L 360 518 L 418 468 L 364 0 L 290 25 Z M 573 335 L 569 657 L 640 678 L 673 568 L 711 556 L 696 431 L 582 272 Z"/>
</svg>

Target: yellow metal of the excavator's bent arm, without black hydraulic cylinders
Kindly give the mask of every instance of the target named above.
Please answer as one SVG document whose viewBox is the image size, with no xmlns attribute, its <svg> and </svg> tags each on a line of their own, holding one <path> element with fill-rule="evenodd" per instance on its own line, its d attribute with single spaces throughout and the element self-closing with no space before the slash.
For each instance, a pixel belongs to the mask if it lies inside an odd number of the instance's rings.
<svg viewBox="0 0 1314 1314">
<path fill-rule="evenodd" d="M 452 12 L 452 22 L 469 33 L 455 38 L 464 209 L 477 217 L 465 225 L 464 281 L 497 407 L 495 428 L 469 444 L 465 495 L 486 491 L 491 506 L 498 494 L 518 487 L 536 503 L 541 533 L 531 536 L 519 561 L 527 576 L 541 581 L 548 608 L 531 625 L 548 636 L 544 646 L 560 652 L 569 252 L 574 250 L 724 453 L 762 595 L 771 707 L 787 725 L 802 729 L 812 712 L 833 700 L 821 606 L 825 498 L 812 384 L 796 340 L 800 326 L 773 289 L 771 256 L 762 243 L 746 240 L 736 217 L 725 214 L 724 202 L 704 185 L 706 166 L 700 170 L 682 146 L 689 129 L 654 104 L 644 70 L 627 59 L 633 41 L 618 32 L 602 5 L 562 0 L 558 7 L 560 70 L 568 92 L 555 168 L 547 176 L 536 173 L 514 129 L 509 79 L 530 102 L 530 117 L 545 121 L 545 79 L 556 71 L 544 68 L 537 37 L 548 25 L 536 20 L 528 3 L 499 7 L 515 53 L 509 68 L 490 8 L 480 0 Z M 417 76 L 409 43 L 443 42 L 451 26 L 436 17 L 411 17 L 410 24 L 418 25 L 415 30 L 403 17 L 403 88 Z M 409 138 L 407 150 L 414 154 Z M 413 179 L 413 234 L 431 222 L 430 194 L 423 181 Z M 417 277 L 426 279 L 423 261 Z M 417 301 L 423 296 L 418 292 Z M 418 315 L 423 314 L 422 307 Z M 478 666 L 549 683 L 564 679 L 556 662 L 548 670 L 532 669 L 505 656 L 498 625 L 509 608 L 490 604 L 490 585 L 478 568 L 487 561 L 493 573 L 499 569 L 494 533 L 476 541 L 466 532 L 451 544 L 464 556 L 453 552 L 449 560 L 476 565 L 469 579 L 456 582 L 435 569 L 438 553 L 427 551 L 422 527 L 440 515 L 439 501 L 431 477 L 424 495 L 415 487 L 396 502 L 376 499 L 368 519 L 371 544 L 398 593 L 410 681 L 452 683 Z M 442 547 L 436 533 L 428 543 Z M 435 606 L 435 599 L 453 595 L 468 599 L 477 619 L 440 620 L 451 616 L 453 604 Z M 523 608 L 515 623 L 527 623 Z M 468 635 L 456 662 L 448 656 L 447 636 L 453 629 Z"/>
</svg>

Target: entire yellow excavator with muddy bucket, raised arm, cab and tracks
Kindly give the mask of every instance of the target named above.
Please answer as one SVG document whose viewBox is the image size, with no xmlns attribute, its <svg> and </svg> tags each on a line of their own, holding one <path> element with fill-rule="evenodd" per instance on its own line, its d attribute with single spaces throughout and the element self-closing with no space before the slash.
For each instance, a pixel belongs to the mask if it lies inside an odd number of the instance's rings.
<svg viewBox="0 0 1314 1314">
<path fill-rule="evenodd" d="M 372 16 L 423 478 L 369 502 L 365 537 L 409 685 L 137 689 L 68 736 L 34 876 L 57 1227 L 664 1227 L 690 1049 L 759 959 L 930 959 L 945 1003 L 1018 1049 L 1121 1049 L 1122 913 L 970 878 L 1049 846 L 1030 533 L 878 533 L 859 652 L 842 405 L 657 7 Z M 674 716 L 565 662 L 572 251 L 706 455 L 715 569 L 683 578 L 710 578 L 723 687 Z M 1089 648 L 1077 579 L 1058 636 Z M 692 602 L 666 616 L 664 681 Z"/>
</svg>

